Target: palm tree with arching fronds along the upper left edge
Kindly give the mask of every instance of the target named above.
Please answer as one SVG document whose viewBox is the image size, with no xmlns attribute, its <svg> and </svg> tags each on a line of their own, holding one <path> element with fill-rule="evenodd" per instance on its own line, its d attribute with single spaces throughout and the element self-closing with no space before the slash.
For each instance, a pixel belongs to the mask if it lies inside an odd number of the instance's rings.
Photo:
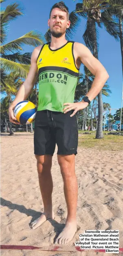
<svg viewBox="0 0 123 256">
<path fill-rule="evenodd" d="M 0 0 L 0 2 L 3 2 L 3 0 Z M 1 10 L 0 61 L 2 68 L 1 87 L 4 90 L 9 88 L 8 84 L 4 82 L 4 78 L 8 73 L 13 72 L 13 76 L 15 77 L 26 78 L 29 72 L 31 53 L 22 53 L 23 46 L 26 44 L 36 47 L 44 44 L 42 33 L 35 30 L 9 43 L 5 43 L 7 41 L 9 22 L 15 20 L 20 15 L 24 15 L 23 9 L 22 4 L 14 2 L 13 4 L 9 4 L 6 9 Z"/>
</svg>

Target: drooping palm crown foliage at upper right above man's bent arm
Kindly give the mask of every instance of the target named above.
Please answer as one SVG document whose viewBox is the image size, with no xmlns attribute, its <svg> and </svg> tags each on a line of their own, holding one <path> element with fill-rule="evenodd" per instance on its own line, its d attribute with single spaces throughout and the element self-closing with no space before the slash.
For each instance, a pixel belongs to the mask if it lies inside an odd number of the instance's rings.
<svg viewBox="0 0 123 256">
<path fill-rule="evenodd" d="M 76 4 L 76 10 L 73 13 L 83 17 L 87 20 L 86 30 L 83 34 L 83 39 L 88 48 L 93 51 L 94 49 L 94 34 L 92 32 L 92 22 L 96 22 L 96 36 L 97 49 L 99 31 L 98 28 L 105 26 L 106 31 L 110 33 L 116 40 L 119 40 L 119 24 L 116 22 L 114 12 L 119 12 L 123 8 L 123 1 L 106 0 L 81 0 L 81 3 Z M 74 15 L 73 15 L 74 16 Z"/>
</svg>

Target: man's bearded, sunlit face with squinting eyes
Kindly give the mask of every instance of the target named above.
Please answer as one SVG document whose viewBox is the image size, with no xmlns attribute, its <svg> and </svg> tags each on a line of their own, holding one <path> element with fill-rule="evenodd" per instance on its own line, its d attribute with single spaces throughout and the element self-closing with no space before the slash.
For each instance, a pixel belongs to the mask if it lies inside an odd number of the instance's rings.
<svg viewBox="0 0 123 256">
<path fill-rule="evenodd" d="M 51 18 L 48 20 L 51 35 L 60 38 L 70 26 L 70 20 L 67 19 L 67 13 L 58 8 L 53 9 Z"/>
</svg>

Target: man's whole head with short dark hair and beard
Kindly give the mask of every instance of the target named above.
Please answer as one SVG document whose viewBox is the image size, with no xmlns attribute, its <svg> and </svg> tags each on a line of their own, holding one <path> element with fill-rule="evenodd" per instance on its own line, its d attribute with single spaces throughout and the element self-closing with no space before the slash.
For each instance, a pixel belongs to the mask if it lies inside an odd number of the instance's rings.
<svg viewBox="0 0 123 256">
<path fill-rule="evenodd" d="M 70 26 L 68 7 L 64 2 L 59 2 L 53 5 L 50 11 L 48 20 L 51 35 L 55 38 L 60 38 Z"/>
</svg>

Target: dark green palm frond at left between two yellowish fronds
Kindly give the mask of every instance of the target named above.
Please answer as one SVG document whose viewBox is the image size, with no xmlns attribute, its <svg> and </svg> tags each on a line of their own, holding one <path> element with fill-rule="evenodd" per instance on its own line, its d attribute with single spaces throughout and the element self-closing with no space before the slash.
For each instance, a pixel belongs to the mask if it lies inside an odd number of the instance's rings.
<svg viewBox="0 0 123 256">
<path fill-rule="evenodd" d="M 2 58 L 7 59 L 7 60 L 11 60 L 13 62 L 17 62 L 17 63 L 20 63 L 20 64 L 30 65 L 31 54 L 32 53 L 23 53 L 23 54 L 21 54 L 20 52 L 9 54 L 9 55 L 2 54 Z"/>
</svg>

